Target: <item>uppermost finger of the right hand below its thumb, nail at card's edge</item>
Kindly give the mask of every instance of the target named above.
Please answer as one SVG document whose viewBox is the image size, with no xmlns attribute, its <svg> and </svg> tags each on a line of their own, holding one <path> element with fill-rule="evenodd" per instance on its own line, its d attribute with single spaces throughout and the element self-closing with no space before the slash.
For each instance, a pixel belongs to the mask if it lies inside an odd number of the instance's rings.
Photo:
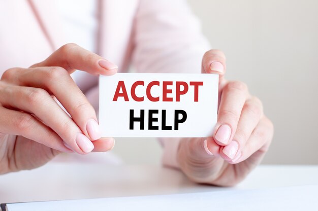
<svg viewBox="0 0 318 211">
<path fill-rule="evenodd" d="M 224 87 L 213 135 L 217 144 L 225 146 L 231 142 L 247 96 L 247 86 L 242 82 L 229 82 Z"/>
</svg>

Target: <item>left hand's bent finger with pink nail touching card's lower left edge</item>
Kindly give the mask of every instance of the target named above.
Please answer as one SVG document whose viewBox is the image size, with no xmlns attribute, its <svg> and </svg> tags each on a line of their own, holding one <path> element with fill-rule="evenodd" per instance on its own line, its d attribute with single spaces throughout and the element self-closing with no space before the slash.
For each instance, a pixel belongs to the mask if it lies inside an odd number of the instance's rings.
<svg viewBox="0 0 318 211">
<path fill-rule="evenodd" d="M 6 79 L 19 86 L 45 89 L 53 94 L 91 140 L 101 137 L 96 112 L 86 96 L 62 67 L 12 69 Z"/>
</svg>

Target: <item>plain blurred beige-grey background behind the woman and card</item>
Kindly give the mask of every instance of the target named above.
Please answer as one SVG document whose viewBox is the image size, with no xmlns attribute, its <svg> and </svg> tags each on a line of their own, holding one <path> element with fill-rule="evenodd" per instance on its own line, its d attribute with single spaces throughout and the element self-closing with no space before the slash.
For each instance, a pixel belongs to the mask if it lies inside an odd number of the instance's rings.
<svg viewBox="0 0 318 211">
<path fill-rule="evenodd" d="M 264 103 L 275 135 L 263 163 L 318 164 L 318 1 L 189 0 L 213 48 L 227 55 L 227 78 Z M 117 139 L 126 163 L 157 164 L 154 139 Z"/>
</svg>

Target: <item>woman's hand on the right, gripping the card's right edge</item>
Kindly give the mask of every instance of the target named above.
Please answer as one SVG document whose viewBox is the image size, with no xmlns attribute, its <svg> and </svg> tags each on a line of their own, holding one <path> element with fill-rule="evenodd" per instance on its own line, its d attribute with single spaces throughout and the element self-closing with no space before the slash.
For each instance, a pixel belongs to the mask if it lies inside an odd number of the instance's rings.
<svg viewBox="0 0 318 211">
<path fill-rule="evenodd" d="M 219 106 L 213 137 L 183 138 L 177 159 L 191 180 L 232 186 L 245 178 L 264 157 L 273 136 L 273 124 L 260 99 L 242 82 L 224 78 L 224 53 L 210 50 L 202 59 L 202 73 L 219 75 Z"/>
</svg>

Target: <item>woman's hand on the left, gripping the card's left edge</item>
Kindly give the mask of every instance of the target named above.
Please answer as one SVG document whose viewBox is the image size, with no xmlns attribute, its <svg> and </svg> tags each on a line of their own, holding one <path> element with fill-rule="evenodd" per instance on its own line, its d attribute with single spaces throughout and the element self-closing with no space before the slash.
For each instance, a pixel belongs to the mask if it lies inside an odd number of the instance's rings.
<svg viewBox="0 0 318 211">
<path fill-rule="evenodd" d="M 36 168 L 59 152 L 86 154 L 113 147 L 113 138 L 101 138 L 96 113 L 70 76 L 76 69 L 93 75 L 117 72 L 113 63 L 67 44 L 43 62 L 3 74 L 0 173 Z"/>
</svg>

